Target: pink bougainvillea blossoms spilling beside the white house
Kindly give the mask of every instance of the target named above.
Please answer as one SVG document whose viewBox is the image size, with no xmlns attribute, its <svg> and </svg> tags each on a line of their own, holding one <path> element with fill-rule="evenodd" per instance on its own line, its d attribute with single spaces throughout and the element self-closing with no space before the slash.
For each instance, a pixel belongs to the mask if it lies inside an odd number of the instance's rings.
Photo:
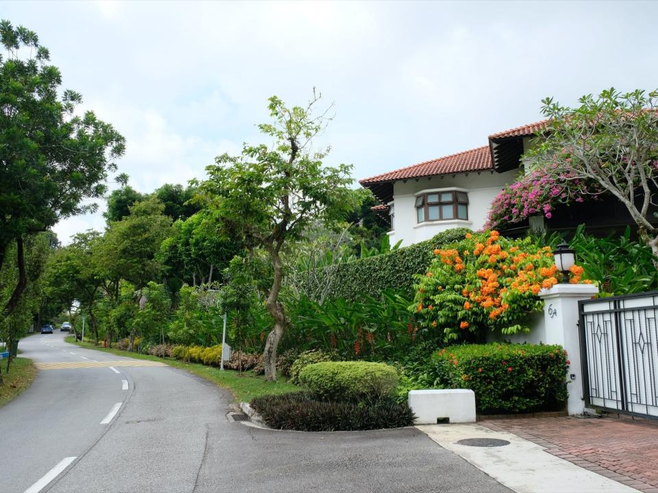
<svg viewBox="0 0 658 493">
<path fill-rule="evenodd" d="M 583 202 L 583 197 L 600 193 L 591 182 L 560 171 L 557 164 L 551 166 L 550 173 L 534 170 L 504 188 L 491 203 L 484 229 L 500 229 L 537 214 L 550 219 L 556 205 Z"/>
</svg>

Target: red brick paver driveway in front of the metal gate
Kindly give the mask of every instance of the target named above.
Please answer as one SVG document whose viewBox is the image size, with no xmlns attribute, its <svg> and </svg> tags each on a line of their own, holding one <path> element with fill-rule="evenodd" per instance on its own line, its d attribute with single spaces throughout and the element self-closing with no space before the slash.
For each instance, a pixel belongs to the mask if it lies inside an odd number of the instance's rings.
<svg viewBox="0 0 658 493">
<path fill-rule="evenodd" d="M 626 417 L 485 420 L 548 453 L 646 493 L 658 493 L 658 422 Z"/>
</svg>

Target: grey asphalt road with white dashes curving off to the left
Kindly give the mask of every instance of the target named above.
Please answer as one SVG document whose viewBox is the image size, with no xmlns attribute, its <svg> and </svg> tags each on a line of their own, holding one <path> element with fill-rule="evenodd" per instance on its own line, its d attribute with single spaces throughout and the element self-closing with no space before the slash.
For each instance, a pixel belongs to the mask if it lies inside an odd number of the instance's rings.
<svg viewBox="0 0 658 493">
<path fill-rule="evenodd" d="M 212 383 L 170 366 L 125 366 L 144 363 L 65 335 L 19 344 L 58 369 L 40 369 L 0 408 L 2 493 L 509 492 L 415 428 L 249 427 L 226 418 L 232 397 Z M 81 367 L 108 362 L 118 363 Z"/>
</svg>

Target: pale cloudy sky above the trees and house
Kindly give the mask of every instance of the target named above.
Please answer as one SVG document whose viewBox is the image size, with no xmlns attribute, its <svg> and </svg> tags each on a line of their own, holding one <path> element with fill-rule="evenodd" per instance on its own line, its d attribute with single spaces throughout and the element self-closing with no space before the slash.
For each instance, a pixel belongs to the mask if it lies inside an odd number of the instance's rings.
<svg viewBox="0 0 658 493">
<path fill-rule="evenodd" d="M 334 104 L 326 164 L 361 179 L 539 121 L 544 97 L 655 89 L 656 14 L 633 1 L 0 3 L 125 136 L 117 173 L 140 192 L 262 142 L 274 94 L 302 105 L 317 87 Z M 102 230 L 99 205 L 58 223 L 60 240 Z"/>
</svg>

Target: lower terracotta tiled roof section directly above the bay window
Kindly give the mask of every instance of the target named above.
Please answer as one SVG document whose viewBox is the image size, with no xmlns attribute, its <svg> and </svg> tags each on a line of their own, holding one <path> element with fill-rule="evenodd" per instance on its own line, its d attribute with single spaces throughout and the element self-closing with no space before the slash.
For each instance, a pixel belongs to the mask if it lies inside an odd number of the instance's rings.
<svg viewBox="0 0 658 493">
<path fill-rule="evenodd" d="M 364 178 L 358 182 L 361 185 L 380 183 L 382 181 L 395 181 L 400 179 L 421 178 L 435 175 L 451 175 L 453 173 L 468 173 L 470 171 L 492 170 L 491 153 L 489 146 L 478 147 L 470 151 L 451 154 L 439 159 L 406 166 L 389 173 Z"/>
</svg>

